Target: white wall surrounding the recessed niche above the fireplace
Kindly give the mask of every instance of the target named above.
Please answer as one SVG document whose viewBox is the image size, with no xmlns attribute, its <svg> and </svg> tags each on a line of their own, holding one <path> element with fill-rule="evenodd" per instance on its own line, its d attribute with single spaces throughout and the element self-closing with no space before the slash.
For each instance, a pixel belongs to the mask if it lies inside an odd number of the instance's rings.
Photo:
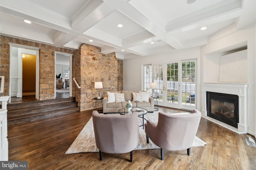
<svg viewBox="0 0 256 170">
<path fill-rule="evenodd" d="M 247 44 L 247 72 L 248 72 L 248 133 L 255 135 L 256 118 L 255 118 L 255 65 L 256 65 L 256 31 L 255 27 L 243 29 L 231 33 L 222 38 L 216 38 L 215 41 L 208 43 L 201 48 L 201 83 L 218 82 L 220 55 L 227 51 L 234 50 L 241 45 Z M 217 70 L 216 72 L 212 70 Z M 202 95 L 202 93 L 201 93 Z M 202 102 L 202 101 L 201 101 Z M 202 104 L 200 105 L 202 109 Z"/>
</svg>

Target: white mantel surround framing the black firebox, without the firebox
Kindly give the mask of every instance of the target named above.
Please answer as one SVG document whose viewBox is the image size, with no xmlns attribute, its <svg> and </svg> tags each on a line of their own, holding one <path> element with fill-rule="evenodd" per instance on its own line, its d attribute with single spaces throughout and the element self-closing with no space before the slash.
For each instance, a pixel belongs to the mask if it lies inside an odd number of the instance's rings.
<svg viewBox="0 0 256 170">
<path fill-rule="evenodd" d="M 204 118 L 222 125 L 236 133 L 247 133 L 247 87 L 246 83 L 202 83 L 202 115 Z M 207 116 L 206 92 L 216 92 L 224 94 L 234 94 L 238 96 L 239 123 L 238 128 L 226 125 L 218 120 Z"/>
</svg>

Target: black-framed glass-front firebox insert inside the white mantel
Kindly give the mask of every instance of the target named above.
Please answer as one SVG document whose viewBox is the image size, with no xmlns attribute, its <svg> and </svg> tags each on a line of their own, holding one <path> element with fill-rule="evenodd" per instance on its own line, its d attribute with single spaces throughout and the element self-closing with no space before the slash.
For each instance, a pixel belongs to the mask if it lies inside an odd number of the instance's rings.
<svg viewBox="0 0 256 170">
<path fill-rule="evenodd" d="M 207 115 L 233 127 L 238 127 L 238 96 L 206 92 Z"/>
</svg>

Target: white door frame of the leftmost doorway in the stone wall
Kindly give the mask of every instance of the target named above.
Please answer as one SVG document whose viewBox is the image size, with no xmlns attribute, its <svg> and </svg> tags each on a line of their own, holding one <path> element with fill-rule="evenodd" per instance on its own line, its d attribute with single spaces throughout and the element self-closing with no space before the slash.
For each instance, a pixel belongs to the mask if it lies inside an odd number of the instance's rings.
<svg viewBox="0 0 256 170">
<path fill-rule="evenodd" d="M 39 49 L 37 47 L 30 47 L 27 45 L 18 45 L 14 43 L 9 43 L 10 45 L 10 70 L 12 69 L 12 47 L 16 47 L 21 49 L 21 52 L 18 53 L 18 93 L 19 97 L 22 97 L 22 53 L 30 54 L 30 55 L 36 55 L 36 99 L 39 100 Z M 26 49 L 34 50 L 35 53 L 26 52 Z M 24 52 L 22 52 L 24 51 Z M 12 75 L 10 74 L 10 87 L 9 87 L 9 95 L 11 96 L 11 87 L 12 87 Z M 9 99 L 9 102 L 11 102 L 11 98 Z"/>
</svg>

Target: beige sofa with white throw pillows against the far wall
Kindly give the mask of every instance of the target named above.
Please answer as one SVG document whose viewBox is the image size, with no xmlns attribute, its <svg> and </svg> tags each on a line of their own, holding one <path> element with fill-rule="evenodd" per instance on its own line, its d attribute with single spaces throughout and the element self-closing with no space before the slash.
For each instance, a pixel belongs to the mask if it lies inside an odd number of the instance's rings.
<svg viewBox="0 0 256 170">
<path fill-rule="evenodd" d="M 119 96 L 113 98 L 113 94 Z M 140 94 L 142 100 L 140 100 Z M 110 95 L 111 96 L 108 96 Z M 124 96 L 121 100 L 120 96 Z M 154 112 L 154 98 L 149 96 L 149 92 L 132 92 L 132 91 L 118 91 L 118 92 L 107 92 L 106 97 L 103 99 L 103 113 L 118 113 L 118 110 L 124 107 L 128 101 L 131 101 L 132 107 L 142 107 L 148 112 Z"/>
</svg>

